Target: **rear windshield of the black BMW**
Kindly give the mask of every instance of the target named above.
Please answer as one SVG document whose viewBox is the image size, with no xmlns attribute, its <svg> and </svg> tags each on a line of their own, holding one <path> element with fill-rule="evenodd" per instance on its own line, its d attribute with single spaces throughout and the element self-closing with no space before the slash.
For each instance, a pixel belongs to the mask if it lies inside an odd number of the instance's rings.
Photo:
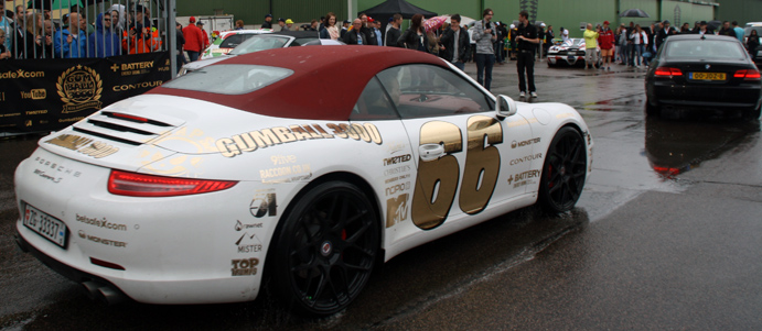
<svg viewBox="0 0 762 331">
<path fill-rule="evenodd" d="M 745 52 L 736 40 L 710 41 L 687 40 L 670 41 L 667 43 L 667 57 L 687 58 L 744 58 Z"/>
</svg>

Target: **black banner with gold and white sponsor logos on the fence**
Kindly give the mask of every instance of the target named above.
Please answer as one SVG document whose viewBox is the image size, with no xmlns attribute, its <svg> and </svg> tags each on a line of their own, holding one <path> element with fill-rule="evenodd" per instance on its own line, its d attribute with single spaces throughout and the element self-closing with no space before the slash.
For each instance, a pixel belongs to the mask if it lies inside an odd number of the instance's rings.
<svg viewBox="0 0 762 331">
<path fill-rule="evenodd" d="M 0 133 L 61 130 L 171 77 L 169 52 L 0 60 Z"/>
</svg>

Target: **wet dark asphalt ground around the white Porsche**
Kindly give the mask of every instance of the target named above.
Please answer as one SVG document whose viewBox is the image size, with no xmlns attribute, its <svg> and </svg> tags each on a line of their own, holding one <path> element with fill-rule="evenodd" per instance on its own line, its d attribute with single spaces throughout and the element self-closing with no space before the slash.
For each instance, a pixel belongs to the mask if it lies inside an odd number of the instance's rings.
<svg viewBox="0 0 762 331">
<path fill-rule="evenodd" d="M 760 122 L 645 119 L 643 71 L 547 68 L 595 142 L 573 212 L 519 210 L 395 257 L 344 312 L 303 320 L 267 298 L 105 307 L 12 242 L 12 174 L 36 137 L 0 141 L 0 328 L 762 329 Z M 466 65 L 475 76 L 475 66 Z M 493 92 L 517 98 L 515 65 Z"/>
</svg>

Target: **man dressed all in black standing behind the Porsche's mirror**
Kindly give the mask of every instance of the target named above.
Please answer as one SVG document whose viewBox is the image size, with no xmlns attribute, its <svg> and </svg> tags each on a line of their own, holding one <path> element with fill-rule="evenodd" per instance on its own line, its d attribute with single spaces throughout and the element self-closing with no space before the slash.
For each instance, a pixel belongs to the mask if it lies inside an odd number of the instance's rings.
<svg viewBox="0 0 762 331">
<path fill-rule="evenodd" d="M 518 13 L 518 31 L 516 33 L 516 46 L 518 54 L 516 54 L 516 69 L 518 70 L 518 97 L 526 97 L 527 82 L 529 85 L 529 95 L 532 98 L 537 98 L 537 89 L 535 89 L 535 49 L 539 44 L 539 36 L 537 36 L 537 27 L 529 24 L 529 13 L 523 10 Z M 524 81 L 524 71 L 526 71 L 526 81 Z"/>
</svg>

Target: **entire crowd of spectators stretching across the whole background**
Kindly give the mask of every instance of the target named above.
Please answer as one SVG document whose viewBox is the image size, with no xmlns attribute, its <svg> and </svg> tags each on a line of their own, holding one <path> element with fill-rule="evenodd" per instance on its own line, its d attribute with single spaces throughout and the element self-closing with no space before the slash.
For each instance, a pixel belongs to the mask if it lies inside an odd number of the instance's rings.
<svg viewBox="0 0 762 331">
<path fill-rule="evenodd" d="M 4 11 L 4 1 L 0 1 L 0 12 Z M 88 23 L 86 12 L 74 5 L 69 13 L 53 22 L 50 11 L 28 10 L 23 5 L 9 15 L 0 15 L 0 59 L 8 58 L 78 58 L 107 57 L 121 54 L 139 54 L 159 51 L 162 40 L 154 26 L 151 26 L 150 11 L 140 4 L 125 8 L 114 4 L 106 12 L 97 14 L 94 23 Z M 337 21 L 336 14 L 329 12 L 320 20 L 302 24 L 301 30 L 315 31 L 321 38 L 342 41 L 350 45 L 396 46 L 431 53 L 448 59 L 463 69 L 464 64 L 473 60 L 476 64 L 476 80 L 486 89 L 491 88 L 492 70 L 495 64 L 503 65 L 507 59 L 515 59 L 519 78 L 519 96 L 537 97 L 534 84 L 534 62 L 547 53 L 554 43 L 555 32 L 551 25 L 529 23 L 528 14 L 522 11 L 518 25 L 507 26 L 493 22 L 493 11 L 485 9 L 482 19 L 473 26 L 464 25 L 461 16 L 454 14 L 449 22 L 436 29 L 425 27 L 425 18 L 416 14 L 411 18 L 410 27 L 401 31 L 403 16 L 389 18 L 387 27 L 382 32 L 383 22 L 361 13 L 354 21 Z M 210 46 L 208 34 L 203 30 L 203 22 L 194 16 L 187 26 L 176 25 L 178 67 L 187 62 L 197 60 L 201 53 Z M 291 19 L 278 19 L 273 26 L 273 16 L 267 14 L 261 29 L 273 31 L 294 31 Z M 744 31 L 737 22 L 723 22 L 713 31 L 706 21 L 696 22 L 691 29 L 684 23 L 679 30 L 670 26 L 669 21 L 641 26 L 630 22 L 622 23 L 612 31 L 609 21 L 595 26 L 587 24 L 583 37 L 586 42 L 587 68 L 598 64 L 598 49 L 602 69 L 611 69 L 611 64 L 630 67 L 647 66 L 648 60 L 664 40 L 673 34 L 719 34 L 739 38 L 749 52 L 760 45 L 756 31 L 744 41 Z M 236 30 L 244 29 L 244 22 L 235 22 Z M 471 29 L 471 31 L 469 31 Z M 559 34 L 564 42 L 569 40 L 569 31 L 561 27 Z M 614 52 L 615 51 L 615 52 Z M 185 57 L 184 54 L 187 54 Z"/>
</svg>

